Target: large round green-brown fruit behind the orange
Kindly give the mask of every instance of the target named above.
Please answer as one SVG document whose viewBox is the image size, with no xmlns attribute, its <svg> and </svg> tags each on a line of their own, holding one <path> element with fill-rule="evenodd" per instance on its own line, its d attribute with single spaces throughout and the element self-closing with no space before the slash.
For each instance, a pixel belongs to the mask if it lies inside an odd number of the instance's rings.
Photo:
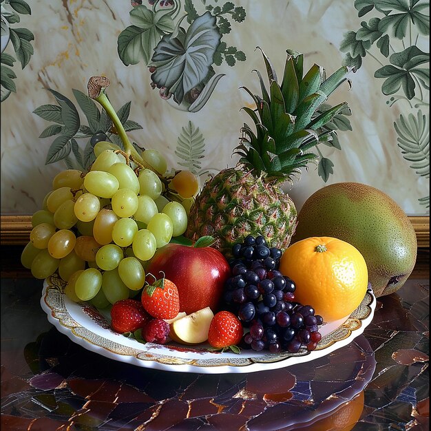
<svg viewBox="0 0 431 431">
<path fill-rule="evenodd" d="M 417 238 L 407 215 L 386 193 L 358 182 L 328 185 L 306 200 L 292 243 L 312 236 L 355 246 L 377 297 L 403 286 L 416 262 Z"/>
</svg>

